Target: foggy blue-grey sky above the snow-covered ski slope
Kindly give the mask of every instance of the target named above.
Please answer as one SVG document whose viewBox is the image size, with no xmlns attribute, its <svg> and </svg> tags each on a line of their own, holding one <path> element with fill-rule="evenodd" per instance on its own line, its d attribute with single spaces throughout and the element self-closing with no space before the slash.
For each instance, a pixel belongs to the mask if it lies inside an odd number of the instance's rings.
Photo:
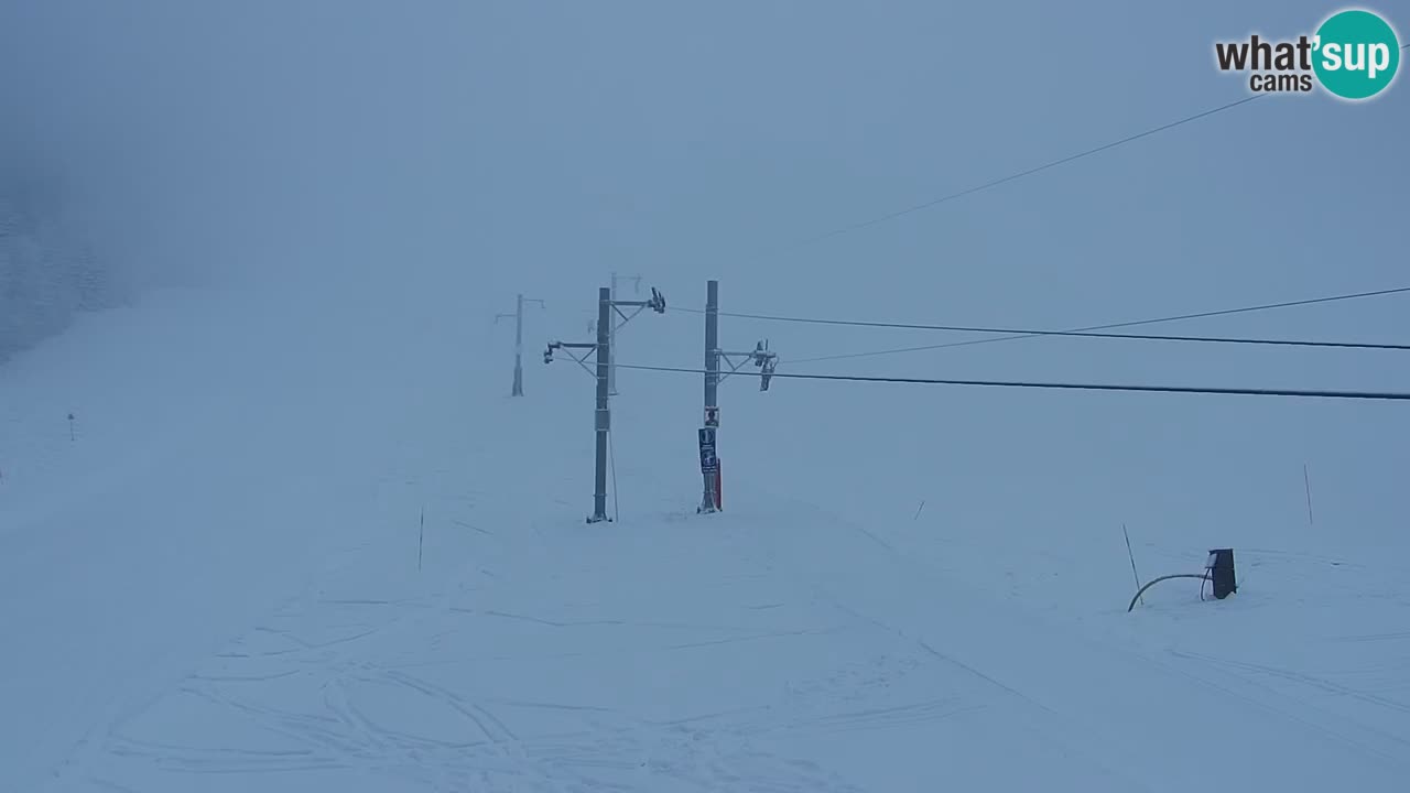
<svg viewBox="0 0 1410 793">
<path fill-rule="evenodd" d="M 792 243 L 1239 99 L 1246 82 L 1215 71 L 1215 40 L 1311 32 L 1332 10 L 21 0 L 0 7 L 0 143 L 65 175 L 114 267 L 171 284 L 312 279 L 327 299 L 362 299 L 360 286 L 405 281 L 455 289 L 477 315 L 526 291 L 563 325 L 618 268 L 681 305 L 718 277 L 732 310 L 1091 325 L 1410 284 L 1404 79 L 1356 106 L 1263 99 Z M 1407 316 L 1385 298 L 1166 330 L 1406 341 Z M 770 333 L 785 361 L 936 340 L 735 327 L 749 346 Z M 697 363 L 664 339 L 633 354 Z M 809 371 L 843 370 L 1410 389 L 1386 354 L 1058 340 Z M 1248 519 L 1262 507 L 1231 507 L 1238 488 L 1300 497 L 1307 457 L 1340 471 L 1325 477 L 1342 477 L 1328 487 L 1348 522 L 1389 531 L 1404 514 L 1410 422 L 1396 406 L 828 394 L 792 387 L 777 405 L 799 426 L 823 402 L 853 416 L 838 443 L 862 456 L 919 443 L 942 450 L 921 466 L 939 454 L 945 476 L 966 459 L 1028 466 L 1034 515 L 1056 494 L 1166 483 L 1163 497 L 1196 501 L 1222 488 L 1220 514 Z M 929 435 L 905 436 L 915 425 Z"/>
</svg>

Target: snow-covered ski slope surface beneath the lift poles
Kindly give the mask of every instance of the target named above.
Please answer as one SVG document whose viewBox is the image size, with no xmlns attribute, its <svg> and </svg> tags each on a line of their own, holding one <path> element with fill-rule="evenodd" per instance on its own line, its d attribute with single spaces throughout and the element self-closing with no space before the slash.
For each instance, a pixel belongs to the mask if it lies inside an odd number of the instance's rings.
<svg viewBox="0 0 1410 793">
<path fill-rule="evenodd" d="M 510 399 L 508 339 L 474 365 L 482 339 L 454 312 L 288 308 L 154 295 L 0 370 L 0 790 L 1366 792 L 1410 775 L 1393 549 L 1244 525 L 1239 594 L 1170 581 L 1128 615 L 1120 525 L 971 528 L 943 483 L 916 515 L 924 495 L 829 485 L 836 460 L 787 437 L 746 463 L 730 422 L 774 396 L 747 380 L 722 387 L 726 511 L 699 516 L 699 382 L 649 373 L 623 373 L 615 404 L 620 519 L 587 525 L 575 365 L 543 367 L 536 339 Z M 694 358 L 697 319 L 675 322 L 658 327 Z M 897 457 L 864 464 L 914 466 Z M 1198 571 L 1228 536 L 1204 529 L 1134 526 L 1141 573 Z"/>
</svg>

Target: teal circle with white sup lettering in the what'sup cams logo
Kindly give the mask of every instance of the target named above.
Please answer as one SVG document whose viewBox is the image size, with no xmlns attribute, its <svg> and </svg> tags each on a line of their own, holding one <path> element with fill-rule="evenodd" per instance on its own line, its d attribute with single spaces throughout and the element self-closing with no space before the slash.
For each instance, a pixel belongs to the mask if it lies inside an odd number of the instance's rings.
<svg viewBox="0 0 1410 793">
<path fill-rule="evenodd" d="M 1313 69 L 1323 87 L 1342 99 L 1371 99 L 1386 90 L 1400 66 L 1400 41 L 1390 23 L 1371 11 L 1332 14 L 1317 28 Z"/>
</svg>

